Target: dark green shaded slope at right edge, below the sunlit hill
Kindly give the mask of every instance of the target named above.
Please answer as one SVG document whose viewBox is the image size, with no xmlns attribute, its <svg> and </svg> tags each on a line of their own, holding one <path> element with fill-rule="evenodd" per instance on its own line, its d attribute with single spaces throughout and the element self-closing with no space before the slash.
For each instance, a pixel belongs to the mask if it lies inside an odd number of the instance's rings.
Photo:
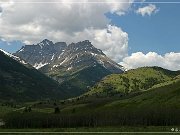
<svg viewBox="0 0 180 135">
<path fill-rule="evenodd" d="M 129 106 L 135 106 L 134 101 L 143 107 L 180 106 L 180 79 L 175 78 L 171 81 L 161 83 L 149 91 L 142 92 L 138 96 L 124 100 Z M 143 101 L 143 102 L 142 102 Z M 111 103 L 112 106 L 120 105 L 121 101 Z M 111 106 L 110 105 L 110 106 Z"/>
</svg>

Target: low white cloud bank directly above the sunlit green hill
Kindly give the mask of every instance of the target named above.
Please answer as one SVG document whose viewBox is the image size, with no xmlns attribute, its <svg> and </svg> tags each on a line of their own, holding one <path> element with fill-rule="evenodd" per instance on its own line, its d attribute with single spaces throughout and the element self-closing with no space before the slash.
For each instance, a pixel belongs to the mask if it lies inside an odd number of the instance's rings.
<svg viewBox="0 0 180 135">
<path fill-rule="evenodd" d="M 159 55 L 155 52 L 143 54 L 142 52 L 132 53 L 120 62 L 127 69 L 135 69 L 144 66 L 159 66 L 169 70 L 180 70 L 180 53 L 166 53 Z"/>
</svg>

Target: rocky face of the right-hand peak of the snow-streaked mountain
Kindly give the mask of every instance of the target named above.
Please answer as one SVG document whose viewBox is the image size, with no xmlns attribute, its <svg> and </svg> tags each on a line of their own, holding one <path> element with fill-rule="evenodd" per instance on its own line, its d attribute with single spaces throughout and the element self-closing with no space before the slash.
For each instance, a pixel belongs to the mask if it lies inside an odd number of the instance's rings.
<svg viewBox="0 0 180 135">
<path fill-rule="evenodd" d="M 123 67 L 109 59 L 100 49 L 88 40 L 68 45 L 64 52 L 50 64 L 44 66 L 44 72 L 76 71 L 85 67 L 102 65 L 112 73 L 121 73 Z"/>
</svg>

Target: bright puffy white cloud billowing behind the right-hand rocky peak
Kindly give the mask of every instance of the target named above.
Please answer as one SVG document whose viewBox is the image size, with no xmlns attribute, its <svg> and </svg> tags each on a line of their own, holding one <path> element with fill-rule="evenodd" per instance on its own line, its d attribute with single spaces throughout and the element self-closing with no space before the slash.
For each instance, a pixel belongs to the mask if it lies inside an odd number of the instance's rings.
<svg viewBox="0 0 180 135">
<path fill-rule="evenodd" d="M 128 34 L 121 28 L 108 25 L 104 29 L 85 29 L 74 36 L 74 41 L 89 39 L 111 59 L 120 62 L 128 54 Z"/>
</svg>

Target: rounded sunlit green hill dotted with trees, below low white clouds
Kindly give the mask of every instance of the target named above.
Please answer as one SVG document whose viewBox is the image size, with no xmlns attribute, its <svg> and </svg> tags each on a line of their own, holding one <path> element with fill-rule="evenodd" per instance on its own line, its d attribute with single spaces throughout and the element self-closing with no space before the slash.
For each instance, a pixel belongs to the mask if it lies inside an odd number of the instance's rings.
<svg viewBox="0 0 180 135">
<path fill-rule="evenodd" d="M 171 81 L 179 74 L 179 71 L 170 71 L 160 67 L 133 69 L 123 74 L 106 76 L 85 95 L 123 96 L 138 93 L 149 90 L 158 84 Z"/>
</svg>

